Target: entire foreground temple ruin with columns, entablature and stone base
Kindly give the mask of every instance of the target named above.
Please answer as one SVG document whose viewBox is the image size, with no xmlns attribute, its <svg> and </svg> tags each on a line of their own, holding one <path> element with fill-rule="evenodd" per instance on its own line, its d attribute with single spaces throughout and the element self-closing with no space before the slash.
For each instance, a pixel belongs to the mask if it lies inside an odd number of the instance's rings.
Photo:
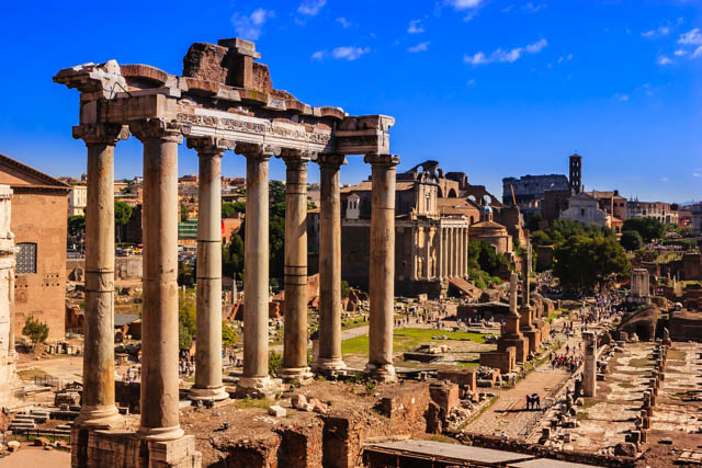
<svg viewBox="0 0 702 468">
<path fill-rule="evenodd" d="M 339 171 L 347 155 L 371 164 L 370 356 L 366 372 L 395 378 L 393 367 L 395 167 L 384 115 L 349 116 L 312 107 L 271 84 L 253 43 L 193 44 L 183 75 L 115 60 L 60 70 L 54 81 L 80 91 L 73 137 L 88 148 L 83 399 L 71 437 L 73 466 L 199 466 L 192 436 L 179 423 L 178 146 L 200 161 L 196 370 L 191 399 L 228 397 L 222 379 L 220 162 L 246 158 L 244 374 L 239 395 L 275 390 L 268 369 L 269 160 L 286 164 L 285 379 L 307 365 L 307 165 L 321 185 L 319 358 L 314 370 L 338 373 L 341 358 Z M 126 431 L 114 398 L 114 149 L 135 136 L 144 145 L 144 308 L 140 422 Z"/>
</svg>

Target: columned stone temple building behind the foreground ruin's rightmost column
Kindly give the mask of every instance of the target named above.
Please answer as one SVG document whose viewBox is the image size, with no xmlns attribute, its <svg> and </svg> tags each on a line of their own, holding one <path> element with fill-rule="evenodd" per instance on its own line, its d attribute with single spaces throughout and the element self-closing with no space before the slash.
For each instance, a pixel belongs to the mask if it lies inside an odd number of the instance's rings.
<svg viewBox="0 0 702 468">
<path fill-rule="evenodd" d="M 450 278 L 467 276 L 469 220 L 458 206 L 440 204 L 458 195 L 460 184 L 443 176 L 437 161 L 397 174 L 395 198 L 395 288 L 398 294 L 445 293 Z M 421 170 L 420 170 L 421 169 Z M 440 197 L 440 193 L 441 196 Z M 341 276 L 367 288 L 371 235 L 370 180 L 341 190 Z M 458 207 L 458 208 L 456 208 Z M 466 205 L 477 214 L 477 206 Z M 308 222 L 309 226 L 309 222 Z"/>
</svg>

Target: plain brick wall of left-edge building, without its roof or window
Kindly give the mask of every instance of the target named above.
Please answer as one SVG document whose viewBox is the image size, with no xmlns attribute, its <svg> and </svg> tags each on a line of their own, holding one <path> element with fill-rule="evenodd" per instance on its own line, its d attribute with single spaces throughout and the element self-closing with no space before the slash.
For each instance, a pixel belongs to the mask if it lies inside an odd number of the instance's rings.
<svg viewBox="0 0 702 468">
<path fill-rule="evenodd" d="M 12 197 L 15 244 L 36 243 L 36 273 L 19 274 L 15 282 L 18 338 L 30 316 L 46 322 L 49 341 L 65 336 L 67 210 L 65 193 L 22 192 Z"/>
</svg>

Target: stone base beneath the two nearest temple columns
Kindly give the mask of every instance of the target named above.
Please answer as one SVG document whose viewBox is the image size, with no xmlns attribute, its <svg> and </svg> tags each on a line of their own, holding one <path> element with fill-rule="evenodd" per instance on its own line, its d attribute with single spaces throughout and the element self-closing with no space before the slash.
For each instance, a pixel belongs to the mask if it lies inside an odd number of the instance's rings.
<svg viewBox="0 0 702 468">
<path fill-rule="evenodd" d="M 144 441 L 125 430 L 73 427 L 70 435 L 72 468 L 200 468 L 195 438 Z"/>
</svg>

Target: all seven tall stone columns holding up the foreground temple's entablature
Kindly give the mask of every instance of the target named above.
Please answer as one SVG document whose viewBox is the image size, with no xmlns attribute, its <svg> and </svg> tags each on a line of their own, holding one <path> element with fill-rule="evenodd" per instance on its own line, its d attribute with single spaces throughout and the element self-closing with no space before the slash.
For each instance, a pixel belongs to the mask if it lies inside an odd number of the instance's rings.
<svg viewBox="0 0 702 468">
<path fill-rule="evenodd" d="M 179 438 L 178 375 L 178 145 L 179 128 L 160 119 L 132 123 L 144 145 L 144 308 L 139 435 Z M 86 344 L 83 406 L 78 424 L 114 426 L 114 147 L 126 139 L 121 125 L 83 125 L 73 136 L 88 147 L 86 209 Z M 193 137 L 188 146 L 200 159 L 197 226 L 197 353 L 192 399 L 227 397 L 222 381 L 222 157 L 234 141 Z M 269 178 L 271 156 L 281 150 L 238 144 L 247 158 L 247 241 L 245 247 L 244 375 L 238 391 L 265 392 L 269 308 Z M 283 150 L 286 163 L 285 341 L 283 377 L 304 378 L 307 367 L 306 165 L 309 153 Z M 373 210 L 371 220 L 371 331 L 367 370 L 393 378 L 395 165 L 389 155 L 370 155 Z M 319 370 L 339 370 L 341 358 L 341 155 L 319 155 L 320 320 Z"/>
</svg>

